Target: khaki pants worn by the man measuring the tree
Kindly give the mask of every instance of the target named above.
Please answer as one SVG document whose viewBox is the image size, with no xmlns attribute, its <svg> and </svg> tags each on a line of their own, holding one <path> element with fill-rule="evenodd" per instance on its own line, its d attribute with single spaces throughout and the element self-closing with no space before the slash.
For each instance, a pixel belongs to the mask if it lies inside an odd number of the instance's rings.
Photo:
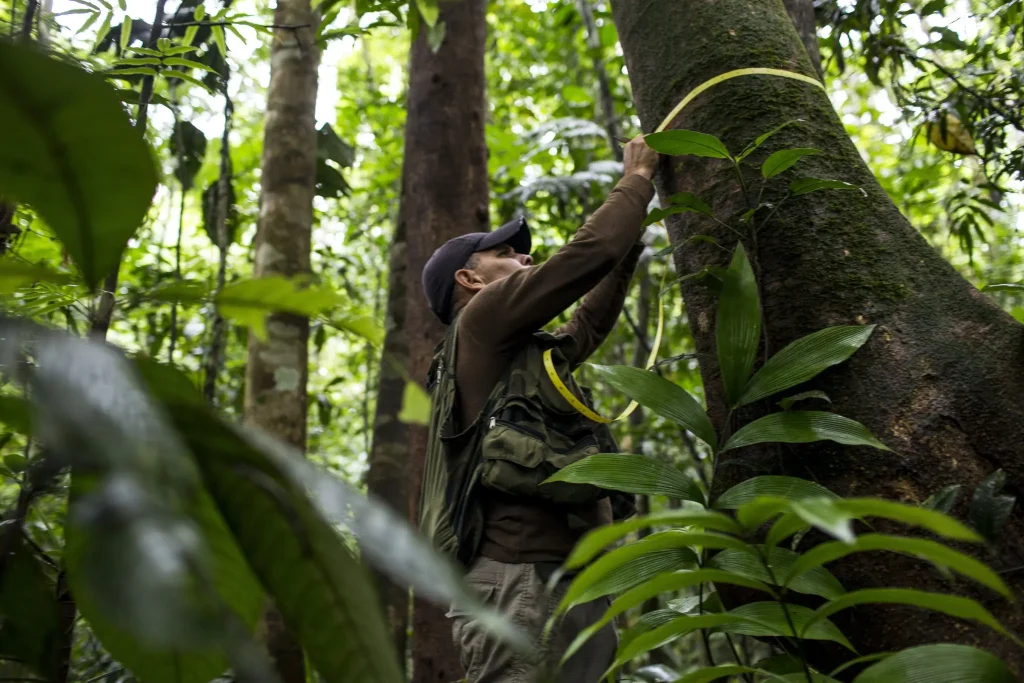
<svg viewBox="0 0 1024 683">
<path fill-rule="evenodd" d="M 538 638 L 568 586 L 568 582 L 562 582 L 553 595 L 548 595 L 545 582 L 532 564 L 506 564 L 486 557 L 473 562 L 466 581 L 484 602 Z M 599 598 L 573 607 L 563 616 L 548 642 L 539 645 L 537 652 L 525 655 L 495 641 L 465 612 L 453 609 L 447 615 L 469 683 L 598 683 L 601 674 L 614 660 L 618 644 L 610 624 L 594 634 L 564 667 L 553 675 L 551 672 L 577 634 L 597 622 L 609 604 L 608 598 Z"/>
</svg>

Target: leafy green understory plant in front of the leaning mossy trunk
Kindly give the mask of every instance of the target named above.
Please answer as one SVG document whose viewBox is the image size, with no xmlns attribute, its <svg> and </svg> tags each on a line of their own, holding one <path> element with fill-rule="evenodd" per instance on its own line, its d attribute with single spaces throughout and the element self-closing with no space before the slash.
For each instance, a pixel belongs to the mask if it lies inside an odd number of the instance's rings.
<svg viewBox="0 0 1024 683">
<path fill-rule="evenodd" d="M 771 220 L 782 203 L 794 197 L 818 189 L 857 189 L 839 180 L 797 178 L 791 181 L 780 202 L 763 203 L 768 180 L 801 158 L 819 154 L 817 150 L 796 148 L 782 150 L 767 158 L 761 167 L 761 188 L 753 196 L 741 162 L 774 132 L 793 123 L 760 136 L 735 157 L 717 138 L 703 133 L 677 130 L 648 136 L 651 145 L 666 154 L 728 160 L 750 201 L 750 210 L 739 217 L 737 225 L 718 220 L 707 203 L 690 195 L 673 197 L 670 206 L 652 212 L 648 218 L 653 222 L 673 213 L 697 212 L 738 238 L 727 268 L 708 267 L 691 275 L 718 294 L 717 355 L 729 408 L 725 424 L 731 433 L 722 438 L 693 396 L 655 373 L 622 366 L 593 366 L 597 375 L 615 389 L 702 441 L 712 454 L 712 472 L 717 470 L 722 453 L 759 443 L 827 439 L 846 445 L 889 450 L 854 420 L 826 411 L 794 410 L 808 399 L 828 400 L 821 391 L 794 391 L 825 369 L 849 358 L 870 338 L 873 326 L 820 330 L 765 358 L 754 372 L 762 347 L 762 308 L 756 267 L 742 243 L 750 244 L 756 254 L 758 230 Z M 764 218 L 759 219 L 760 216 Z M 700 236 L 700 239 L 718 245 L 711 237 Z M 787 391 L 791 395 L 785 395 Z M 769 398 L 777 401 L 778 410 L 735 425 L 737 409 Z M 822 683 L 836 681 L 840 676 L 850 680 L 856 674 L 853 679 L 856 683 L 1016 680 L 999 658 L 967 645 L 936 643 L 899 652 L 860 655 L 830 618 L 861 605 L 910 605 L 985 625 L 1020 644 L 1015 634 L 970 598 L 908 588 L 847 591 L 826 568 L 854 553 L 887 551 L 931 562 L 946 574 L 958 575 L 1013 600 L 1010 589 L 996 572 L 948 545 L 980 544 L 983 536 L 943 514 L 940 510 L 947 511 L 946 505 L 844 499 L 813 481 L 776 475 L 754 476 L 713 496 L 716 489 L 713 480 L 701 481 L 642 455 L 592 456 L 560 470 L 550 481 L 665 496 L 681 503 L 677 509 L 641 515 L 589 532 L 562 567 L 564 572 L 578 573 L 568 584 L 552 620 L 584 602 L 617 596 L 603 616 L 571 643 L 565 658 L 613 620 L 659 597 L 668 598 L 667 608 L 647 609 L 622 634 L 614 663 L 606 672 L 609 680 L 627 665 L 690 634 L 699 635 L 710 666 L 668 678 L 668 670 L 662 668 L 660 679 L 676 683 L 726 679 L 749 683 Z M 867 521 L 871 518 L 929 532 L 934 540 L 876 532 Z M 822 532 L 827 540 L 798 550 L 800 541 L 812 529 Z M 641 538 L 632 540 L 635 535 Z M 624 540 L 627 542 L 612 549 Z M 748 595 L 760 594 L 761 599 L 727 605 L 728 600 L 723 601 L 718 592 L 726 587 L 741 589 Z M 771 638 L 778 651 L 748 661 L 735 646 L 733 638 L 737 636 Z M 729 660 L 714 660 L 712 637 L 727 642 Z M 808 656 L 815 641 L 840 644 L 849 650 L 848 660 L 831 671 L 816 670 Z"/>
</svg>

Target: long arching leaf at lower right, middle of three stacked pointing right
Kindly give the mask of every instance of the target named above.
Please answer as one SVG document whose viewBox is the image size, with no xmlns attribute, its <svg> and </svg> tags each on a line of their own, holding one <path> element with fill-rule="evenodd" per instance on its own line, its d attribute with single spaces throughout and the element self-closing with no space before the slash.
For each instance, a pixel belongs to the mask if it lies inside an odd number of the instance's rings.
<svg viewBox="0 0 1024 683">
<path fill-rule="evenodd" d="M 829 541 L 819 544 L 806 551 L 800 556 L 800 559 L 793 563 L 783 583 L 790 584 L 805 572 L 828 562 L 835 562 L 847 555 L 870 550 L 887 550 L 927 560 L 939 566 L 948 567 L 968 579 L 973 579 L 982 586 L 987 586 L 1007 597 L 1012 595 L 997 573 L 973 557 L 968 557 L 964 553 L 935 541 L 884 533 L 865 533 L 857 537 L 853 543 Z"/>
</svg>

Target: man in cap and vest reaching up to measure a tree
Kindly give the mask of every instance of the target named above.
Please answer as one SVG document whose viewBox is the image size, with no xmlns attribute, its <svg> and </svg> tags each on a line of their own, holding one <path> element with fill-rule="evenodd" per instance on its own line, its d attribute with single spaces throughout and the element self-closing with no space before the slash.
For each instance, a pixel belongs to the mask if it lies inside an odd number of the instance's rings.
<svg viewBox="0 0 1024 683">
<path fill-rule="evenodd" d="M 641 225 L 656 164 L 642 136 L 630 141 L 623 179 L 543 265 L 532 265 L 529 229 L 519 220 L 452 240 L 424 267 L 427 300 L 450 329 L 429 378 L 421 526 L 469 567 L 467 581 L 485 601 L 535 632 L 566 585 L 554 596 L 546 593 L 554 569 L 625 501 L 592 486 L 542 483 L 569 462 L 616 447 L 605 425 L 587 420 L 558 394 L 541 354 L 554 349 L 559 376 L 588 400 L 570 373 L 601 345 L 622 311 L 643 251 Z M 556 334 L 540 332 L 581 298 Z M 545 664 L 557 661 L 607 605 L 601 599 L 569 610 L 545 644 Z M 536 680 L 542 657 L 502 646 L 458 609 L 450 616 L 469 683 Z M 569 658 L 557 680 L 597 683 L 615 646 L 609 626 Z"/>
</svg>

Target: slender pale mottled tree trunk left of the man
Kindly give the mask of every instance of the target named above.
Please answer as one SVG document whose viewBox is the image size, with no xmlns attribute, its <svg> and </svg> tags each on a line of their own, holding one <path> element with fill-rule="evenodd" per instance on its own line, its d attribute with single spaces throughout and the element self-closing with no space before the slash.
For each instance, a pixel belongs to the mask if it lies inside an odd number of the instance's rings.
<svg viewBox="0 0 1024 683">
<path fill-rule="evenodd" d="M 295 276 L 309 272 L 309 244 L 316 177 L 317 17 L 309 0 L 279 0 L 270 48 L 270 87 L 260 183 L 259 227 L 253 274 Z M 297 449 L 306 445 L 306 378 L 309 321 L 275 313 L 266 339 L 249 336 L 246 421 Z M 266 644 L 284 683 L 304 683 L 302 647 L 280 613 L 264 614 Z"/>
</svg>

